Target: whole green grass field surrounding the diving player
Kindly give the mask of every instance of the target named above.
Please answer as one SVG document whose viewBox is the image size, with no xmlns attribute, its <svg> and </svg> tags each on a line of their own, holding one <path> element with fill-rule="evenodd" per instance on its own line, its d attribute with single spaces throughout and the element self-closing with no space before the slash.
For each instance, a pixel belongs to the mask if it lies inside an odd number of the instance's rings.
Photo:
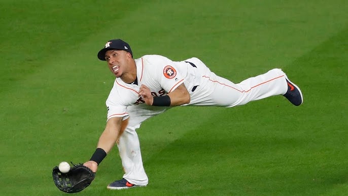
<svg viewBox="0 0 348 196">
<path fill-rule="evenodd" d="M 147 187 L 115 147 L 76 195 L 347 195 L 348 4 L 332 1 L 0 0 L 0 194 L 66 195 L 60 161 L 84 162 L 106 124 L 113 76 L 98 50 L 202 59 L 236 83 L 282 68 L 304 94 L 235 108 L 177 107 L 137 130 Z"/>
</svg>

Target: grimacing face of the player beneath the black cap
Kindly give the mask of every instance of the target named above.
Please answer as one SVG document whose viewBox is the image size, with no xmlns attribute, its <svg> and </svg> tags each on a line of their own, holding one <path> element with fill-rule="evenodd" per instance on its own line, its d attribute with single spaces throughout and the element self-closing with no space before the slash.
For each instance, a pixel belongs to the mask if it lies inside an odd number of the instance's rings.
<svg viewBox="0 0 348 196">
<path fill-rule="evenodd" d="M 105 53 L 108 67 L 117 78 L 127 72 L 127 54 L 124 50 L 109 50 Z"/>
</svg>

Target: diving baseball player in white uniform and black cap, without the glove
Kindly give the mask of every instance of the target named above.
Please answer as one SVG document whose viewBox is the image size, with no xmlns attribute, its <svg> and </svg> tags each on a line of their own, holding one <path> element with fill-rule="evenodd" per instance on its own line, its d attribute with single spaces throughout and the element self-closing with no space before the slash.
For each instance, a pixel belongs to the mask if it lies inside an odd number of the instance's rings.
<svg viewBox="0 0 348 196">
<path fill-rule="evenodd" d="M 117 143 L 125 174 L 108 189 L 148 184 L 135 129 L 172 106 L 234 107 L 273 95 L 284 95 L 295 106 L 303 102 L 300 89 L 281 69 L 234 84 L 214 74 L 195 57 L 183 61 L 160 55 L 133 59 L 130 46 L 120 39 L 108 41 L 98 58 L 107 61 L 116 80 L 106 102 L 106 128 L 84 165 L 96 172 Z"/>
</svg>

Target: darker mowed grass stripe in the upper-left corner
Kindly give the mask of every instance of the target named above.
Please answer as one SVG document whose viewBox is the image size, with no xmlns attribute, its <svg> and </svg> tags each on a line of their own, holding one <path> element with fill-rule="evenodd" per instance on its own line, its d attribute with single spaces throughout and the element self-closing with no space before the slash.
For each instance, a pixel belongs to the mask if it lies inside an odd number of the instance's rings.
<svg viewBox="0 0 348 196">
<path fill-rule="evenodd" d="M 52 62 L 60 62 L 62 58 L 71 59 L 71 63 L 79 62 L 73 54 L 93 48 L 91 43 L 87 44 L 88 48 L 80 48 L 82 43 L 99 31 L 110 29 L 144 3 L 117 2 L 122 9 L 115 14 L 115 9 L 110 6 L 116 4 L 114 1 L 1 1 L 0 11 L 4 14 L 0 18 L 3 30 L 0 36 L 3 61 L 0 83 L 4 84 L 0 88 L 1 94 L 20 87 L 23 78 L 52 66 Z M 102 46 L 100 41 L 97 46 L 98 49 Z M 84 53 L 95 59 L 95 50 L 93 56 Z M 57 69 L 64 69 L 64 66 L 67 65 L 57 64 Z"/>
</svg>

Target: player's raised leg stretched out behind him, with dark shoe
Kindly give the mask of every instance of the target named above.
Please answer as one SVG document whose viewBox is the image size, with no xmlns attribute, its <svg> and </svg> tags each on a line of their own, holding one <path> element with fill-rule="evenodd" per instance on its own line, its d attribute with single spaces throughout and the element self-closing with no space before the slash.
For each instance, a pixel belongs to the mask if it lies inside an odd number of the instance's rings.
<svg viewBox="0 0 348 196">
<path fill-rule="evenodd" d="M 294 105 L 302 103 L 300 89 L 287 79 L 281 69 L 273 69 L 235 84 L 205 68 L 205 64 L 199 59 L 193 60 L 198 64 L 202 80 L 197 90 L 191 93 L 189 105 L 233 107 L 273 95 L 284 95 Z"/>
</svg>

